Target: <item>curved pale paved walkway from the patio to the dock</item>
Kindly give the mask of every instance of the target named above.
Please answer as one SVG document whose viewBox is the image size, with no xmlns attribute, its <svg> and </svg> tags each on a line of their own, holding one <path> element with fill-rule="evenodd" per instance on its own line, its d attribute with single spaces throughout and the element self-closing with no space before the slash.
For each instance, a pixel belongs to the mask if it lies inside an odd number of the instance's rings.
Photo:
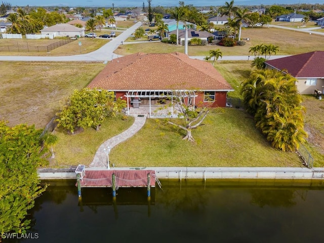
<svg viewBox="0 0 324 243">
<path fill-rule="evenodd" d="M 133 125 L 129 129 L 103 142 L 98 148 L 95 157 L 89 167 L 107 168 L 107 153 L 105 149 L 107 149 L 108 146 L 110 149 L 112 149 L 117 144 L 124 142 L 125 140 L 136 134 L 144 126 L 146 117 L 147 115 L 144 115 L 143 117 L 136 116 Z"/>
</svg>

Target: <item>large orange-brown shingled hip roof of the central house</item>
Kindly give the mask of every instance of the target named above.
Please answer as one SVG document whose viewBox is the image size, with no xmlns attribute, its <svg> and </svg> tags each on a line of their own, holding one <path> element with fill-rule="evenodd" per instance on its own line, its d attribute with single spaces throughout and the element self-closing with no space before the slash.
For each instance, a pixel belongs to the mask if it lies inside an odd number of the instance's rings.
<svg viewBox="0 0 324 243">
<path fill-rule="evenodd" d="M 183 53 L 136 53 L 114 59 L 89 88 L 128 90 L 232 90 L 211 63 Z"/>
</svg>

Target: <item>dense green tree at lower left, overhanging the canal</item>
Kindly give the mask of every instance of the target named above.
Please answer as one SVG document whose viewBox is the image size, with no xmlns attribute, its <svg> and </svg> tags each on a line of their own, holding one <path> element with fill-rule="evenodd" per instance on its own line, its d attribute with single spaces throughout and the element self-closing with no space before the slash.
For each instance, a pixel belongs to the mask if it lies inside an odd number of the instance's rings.
<svg viewBox="0 0 324 243">
<path fill-rule="evenodd" d="M 25 220 L 34 199 L 45 191 L 37 167 L 47 164 L 43 156 L 42 130 L 34 126 L 8 127 L 0 121 L 0 235 L 10 231 L 25 233 Z"/>
</svg>

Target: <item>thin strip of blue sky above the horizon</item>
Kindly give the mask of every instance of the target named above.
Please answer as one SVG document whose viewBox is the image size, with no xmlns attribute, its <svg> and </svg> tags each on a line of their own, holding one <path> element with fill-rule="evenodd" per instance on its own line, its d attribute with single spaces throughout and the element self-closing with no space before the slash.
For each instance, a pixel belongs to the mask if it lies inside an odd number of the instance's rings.
<svg viewBox="0 0 324 243">
<path fill-rule="evenodd" d="M 142 7 L 143 2 L 145 7 L 148 6 L 147 0 L 6 0 L 4 2 L 10 3 L 12 6 L 68 6 L 68 7 L 106 7 L 111 8 L 114 4 L 115 8 L 118 7 Z M 186 0 L 185 5 L 192 4 L 194 6 L 223 6 L 226 0 Z M 298 4 L 298 3 L 308 3 L 315 4 L 318 0 L 307 0 L 305 2 L 300 2 L 299 0 L 235 0 L 234 5 L 274 5 L 274 4 Z M 164 6 L 172 7 L 178 6 L 178 0 L 152 0 L 151 5 L 154 6 Z M 40 5 L 42 4 L 42 5 Z"/>
</svg>

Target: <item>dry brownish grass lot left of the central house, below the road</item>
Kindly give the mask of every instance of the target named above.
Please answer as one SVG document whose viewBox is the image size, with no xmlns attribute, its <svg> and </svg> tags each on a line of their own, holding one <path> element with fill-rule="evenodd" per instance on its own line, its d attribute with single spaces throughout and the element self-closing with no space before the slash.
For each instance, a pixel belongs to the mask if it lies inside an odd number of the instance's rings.
<svg viewBox="0 0 324 243">
<path fill-rule="evenodd" d="M 86 87 L 102 63 L 1 62 L 0 118 L 44 128 L 73 90 Z"/>
</svg>

